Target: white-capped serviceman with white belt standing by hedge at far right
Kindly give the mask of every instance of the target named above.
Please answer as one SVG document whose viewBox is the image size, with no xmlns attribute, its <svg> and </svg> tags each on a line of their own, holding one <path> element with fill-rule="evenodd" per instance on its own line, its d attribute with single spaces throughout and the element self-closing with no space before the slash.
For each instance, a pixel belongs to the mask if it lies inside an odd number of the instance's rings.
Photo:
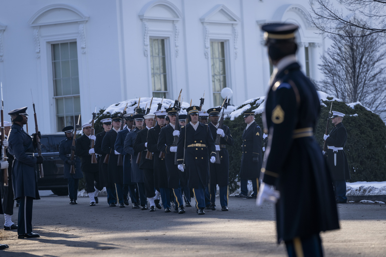
<svg viewBox="0 0 386 257">
<path fill-rule="evenodd" d="M 331 122 L 334 124 L 329 135 L 324 135 L 328 145 L 327 164 L 334 183 L 335 201 L 347 203 L 346 179 L 350 179 L 349 164 L 343 147 L 347 141 L 347 131 L 342 123 L 343 113 L 332 112 Z"/>
</svg>

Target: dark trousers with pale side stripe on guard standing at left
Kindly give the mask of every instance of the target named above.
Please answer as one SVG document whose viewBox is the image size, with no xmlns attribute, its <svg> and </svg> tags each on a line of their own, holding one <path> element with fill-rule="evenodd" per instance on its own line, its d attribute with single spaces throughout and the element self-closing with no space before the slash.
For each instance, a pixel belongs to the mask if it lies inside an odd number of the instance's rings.
<svg viewBox="0 0 386 257">
<path fill-rule="evenodd" d="M 32 197 L 28 197 L 28 196 L 20 197 L 19 216 L 17 218 L 17 233 L 19 235 L 32 232 L 33 201 L 34 201 L 34 198 Z"/>
</svg>

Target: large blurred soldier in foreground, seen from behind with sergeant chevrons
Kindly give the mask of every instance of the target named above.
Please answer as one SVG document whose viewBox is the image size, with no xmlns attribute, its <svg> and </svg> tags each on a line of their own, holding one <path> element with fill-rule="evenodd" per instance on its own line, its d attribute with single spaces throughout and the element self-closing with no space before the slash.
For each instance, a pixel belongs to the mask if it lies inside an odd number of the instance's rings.
<svg viewBox="0 0 386 257">
<path fill-rule="evenodd" d="M 339 228 L 339 221 L 332 180 L 313 137 L 319 98 L 296 62 L 297 28 L 295 24 L 262 27 L 275 69 L 262 116 L 268 147 L 256 203 L 277 201 L 278 242 L 286 243 L 289 256 L 323 256 L 319 233 Z"/>
</svg>

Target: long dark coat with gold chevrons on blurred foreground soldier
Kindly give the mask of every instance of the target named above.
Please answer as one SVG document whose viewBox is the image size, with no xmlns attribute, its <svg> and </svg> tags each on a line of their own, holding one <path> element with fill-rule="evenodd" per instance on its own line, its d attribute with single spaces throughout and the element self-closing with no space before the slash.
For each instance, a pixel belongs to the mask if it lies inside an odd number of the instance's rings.
<svg viewBox="0 0 386 257">
<path fill-rule="evenodd" d="M 268 147 L 263 182 L 276 186 L 278 242 L 339 228 L 332 180 L 313 131 L 320 103 L 312 82 L 292 63 L 273 78 L 263 115 Z"/>
</svg>

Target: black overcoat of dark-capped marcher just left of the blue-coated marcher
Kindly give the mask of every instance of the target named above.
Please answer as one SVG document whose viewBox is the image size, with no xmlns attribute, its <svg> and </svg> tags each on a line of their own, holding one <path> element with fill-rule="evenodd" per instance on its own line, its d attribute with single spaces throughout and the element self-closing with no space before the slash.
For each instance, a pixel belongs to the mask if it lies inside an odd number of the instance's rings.
<svg viewBox="0 0 386 257">
<path fill-rule="evenodd" d="M 118 166 L 118 155 L 115 154 L 115 141 L 117 132 L 112 128 L 106 132 L 102 140 L 102 152 L 110 154 L 108 159 L 108 181 L 117 184 L 123 184 L 123 166 Z"/>
</svg>

